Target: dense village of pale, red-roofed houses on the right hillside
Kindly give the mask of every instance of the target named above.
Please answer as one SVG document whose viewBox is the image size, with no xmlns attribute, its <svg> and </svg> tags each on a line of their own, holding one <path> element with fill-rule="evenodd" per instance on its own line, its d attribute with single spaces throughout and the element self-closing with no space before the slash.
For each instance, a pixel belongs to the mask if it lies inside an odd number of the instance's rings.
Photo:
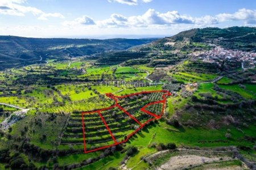
<svg viewBox="0 0 256 170">
<path fill-rule="evenodd" d="M 220 65 L 220 61 L 226 59 L 241 62 L 242 67 L 255 67 L 256 65 L 256 53 L 224 49 L 220 46 L 216 46 L 216 48 L 207 52 L 197 52 L 191 55 L 199 57 L 204 62 L 217 63 L 218 65 Z"/>
</svg>

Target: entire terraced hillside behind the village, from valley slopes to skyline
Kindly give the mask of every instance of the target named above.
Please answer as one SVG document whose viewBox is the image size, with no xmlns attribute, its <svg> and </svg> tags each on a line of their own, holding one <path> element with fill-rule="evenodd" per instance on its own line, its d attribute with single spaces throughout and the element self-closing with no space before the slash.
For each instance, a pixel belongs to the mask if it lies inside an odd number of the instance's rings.
<svg viewBox="0 0 256 170">
<path fill-rule="evenodd" d="M 211 50 L 215 45 L 225 49 L 256 51 L 255 33 L 254 27 L 190 29 L 147 45 L 133 46 L 125 52 L 103 53 L 98 56 L 97 64 L 164 67 L 183 61 L 193 52 Z"/>
</svg>

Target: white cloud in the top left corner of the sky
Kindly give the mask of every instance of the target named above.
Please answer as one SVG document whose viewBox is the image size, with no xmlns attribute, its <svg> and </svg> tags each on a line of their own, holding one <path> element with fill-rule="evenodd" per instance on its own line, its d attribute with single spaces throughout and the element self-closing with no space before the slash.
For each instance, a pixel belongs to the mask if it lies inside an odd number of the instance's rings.
<svg viewBox="0 0 256 170">
<path fill-rule="evenodd" d="M 0 14 L 3 15 L 14 15 L 24 16 L 28 13 L 32 15 L 39 15 L 38 19 L 47 20 L 48 17 L 64 18 L 59 13 L 46 13 L 38 8 L 31 6 L 24 6 L 27 0 L 1 0 L 0 1 Z"/>
</svg>

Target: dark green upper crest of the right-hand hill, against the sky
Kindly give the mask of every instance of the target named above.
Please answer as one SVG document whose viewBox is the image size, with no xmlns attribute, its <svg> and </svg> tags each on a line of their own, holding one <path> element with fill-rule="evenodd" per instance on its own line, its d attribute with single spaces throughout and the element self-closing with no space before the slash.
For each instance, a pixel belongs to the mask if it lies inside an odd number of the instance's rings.
<svg viewBox="0 0 256 170">
<path fill-rule="evenodd" d="M 255 27 L 196 28 L 155 42 L 164 46 L 167 42 L 209 42 L 229 49 L 256 50 Z"/>
</svg>

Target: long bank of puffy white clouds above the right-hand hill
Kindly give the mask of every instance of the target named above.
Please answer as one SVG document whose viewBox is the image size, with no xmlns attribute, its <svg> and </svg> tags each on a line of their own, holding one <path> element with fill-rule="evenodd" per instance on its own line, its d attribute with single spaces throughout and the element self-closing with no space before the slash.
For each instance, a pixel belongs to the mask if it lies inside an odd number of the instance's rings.
<svg viewBox="0 0 256 170">
<path fill-rule="evenodd" d="M 192 24 L 197 27 L 211 27 L 220 22 L 228 20 L 244 21 L 245 24 L 255 24 L 256 10 L 247 10 L 245 8 L 238 10 L 234 14 L 218 14 L 216 16 L 205 15 L 201 17 L 192 17 L 190 15 L 179 14 L 178 11 L 168 11 L 166 13 L 158 12 L 154 9 L 148 9 L 142 15 L 123 16 L 112 14 L 109 19 L 98 20 L 98 27 L 171 27 L 175 24 Z M 158 26 L 157 26 L 158 25 Z"/>
</svg>

